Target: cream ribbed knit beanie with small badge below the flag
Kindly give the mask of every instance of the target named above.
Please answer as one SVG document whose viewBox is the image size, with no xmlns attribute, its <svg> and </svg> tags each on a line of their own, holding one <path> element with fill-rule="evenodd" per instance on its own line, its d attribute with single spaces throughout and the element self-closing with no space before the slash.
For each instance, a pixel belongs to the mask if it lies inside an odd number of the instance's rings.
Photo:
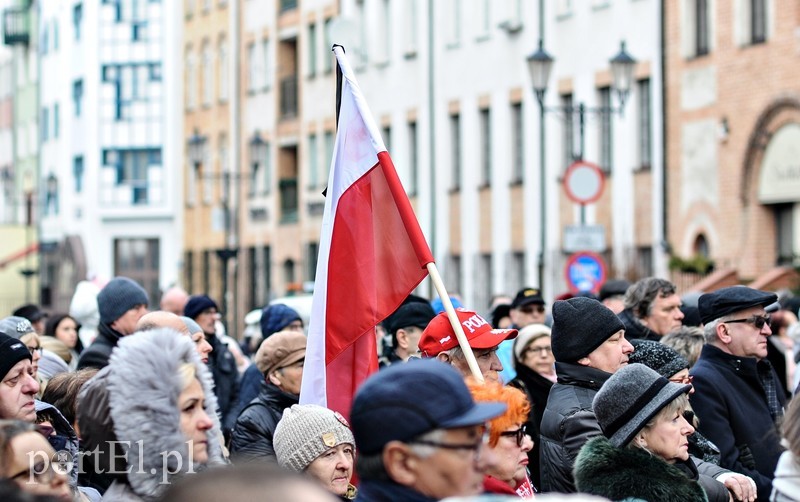
<svg viewBox="0 0 800 502">
<path fill-rule="evenodd" d="M 356 444 L 347 420 L 316 404 L 295 404 L 283 410 L 272 441 L 278 463 L 297 472 L 304 471 L 314 459 L 335 446 Z"/>
</svg>

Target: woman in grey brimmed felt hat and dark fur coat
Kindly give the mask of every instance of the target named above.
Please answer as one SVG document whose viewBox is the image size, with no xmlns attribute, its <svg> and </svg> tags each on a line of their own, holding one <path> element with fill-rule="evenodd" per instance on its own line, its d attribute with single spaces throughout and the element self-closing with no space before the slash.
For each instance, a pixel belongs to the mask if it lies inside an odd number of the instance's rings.
<svg viewBox="0 0 800 502">
<path fill-rule="evenodd" d="M 700 474 L 689 455 L 691 389 L 637 363 L 609 378 L 592 403 L 605 437 L 590 440 L 578 454 L 578 490 L 612 500 L 705 502 L 720 493 L 728 500 L 724 487 Z M 735 481 L 736 500 L 755 500 L 755 484 L 744 477 Z"/>
</svg>

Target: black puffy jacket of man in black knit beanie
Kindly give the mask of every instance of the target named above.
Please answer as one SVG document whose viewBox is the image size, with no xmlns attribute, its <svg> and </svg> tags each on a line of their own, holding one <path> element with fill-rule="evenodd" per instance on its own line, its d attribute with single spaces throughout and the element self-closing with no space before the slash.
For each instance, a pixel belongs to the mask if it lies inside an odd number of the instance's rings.
<svg viewBox="0 0 800 502">
<path fill-rule="evenodd" d="M 550 389 L 540 429 L 542 491 L 575 492 L 572 466 L 581 447 L 603 431 L 592 400 L 611 373 L 572 363 L 556 363 L 558 383 Z"/>
</svg>

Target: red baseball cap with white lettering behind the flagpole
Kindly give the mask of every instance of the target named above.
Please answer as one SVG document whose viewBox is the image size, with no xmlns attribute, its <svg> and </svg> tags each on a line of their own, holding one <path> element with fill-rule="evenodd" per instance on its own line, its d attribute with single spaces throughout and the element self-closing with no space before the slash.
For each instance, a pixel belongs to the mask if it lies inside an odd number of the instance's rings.
<svg viewBox="0 0 800 502">
<path fill-rule="evenodd" d="M 486 319 L 472 310 L 457 308 L 456 316 L 461 322 L 464 334 L 467 335 L 469 346 L 473 349 L 490 349 L 503 340 L 517 336 L 515 329 L 492 329 Z M 425 357 L 434 357 L 457 346 L 458 338 L 447 318 L 447 312 L 441 312 L 434 317 L 419 339 L 419 351 Z"/>
</svg>

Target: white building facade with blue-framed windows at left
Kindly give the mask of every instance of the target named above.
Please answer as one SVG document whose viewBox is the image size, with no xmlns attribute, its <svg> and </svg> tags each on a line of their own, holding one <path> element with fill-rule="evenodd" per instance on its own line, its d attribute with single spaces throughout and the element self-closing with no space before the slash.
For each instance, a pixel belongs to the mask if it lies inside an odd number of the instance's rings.
<svg viewBox="0 0 800 502">
<path fill-rule="evenodd" d="M 42 303 L 116 275 L 157 304 L 178 281 L 180 6 L 41 2 Z"/>
</svg>

